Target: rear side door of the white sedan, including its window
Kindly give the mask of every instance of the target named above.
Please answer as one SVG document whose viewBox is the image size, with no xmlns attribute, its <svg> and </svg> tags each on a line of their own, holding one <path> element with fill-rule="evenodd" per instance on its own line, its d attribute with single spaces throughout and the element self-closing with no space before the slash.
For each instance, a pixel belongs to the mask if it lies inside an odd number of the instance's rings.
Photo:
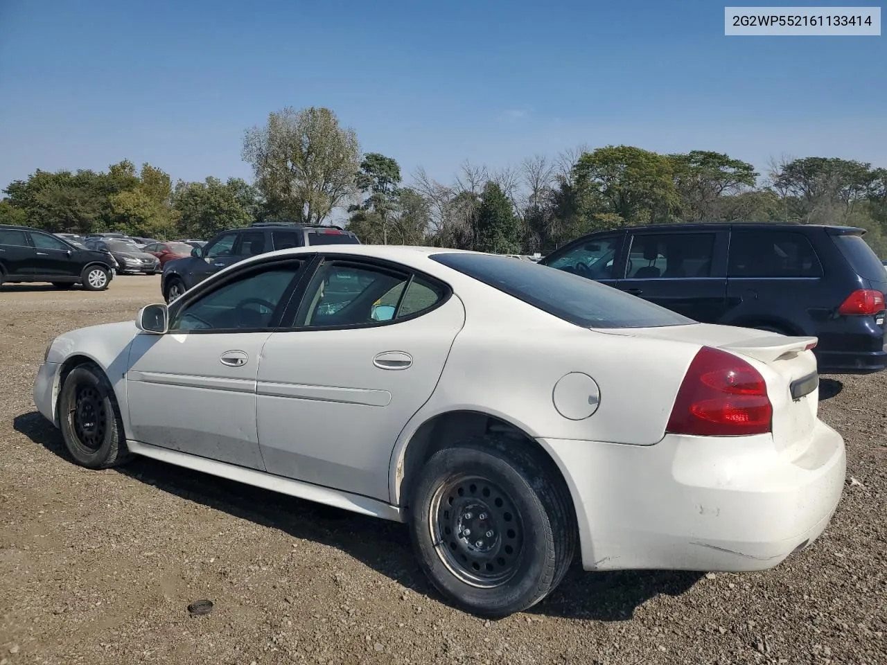
<svg viewBox="0 0 887 665">
<path fill-rule="evenodd" d="M 465 310 L 395 264 L 320 261 L 262 352 L 263 458 L 270 473 L 388 501 L 397 436 L 434 391 Z"/>
</svg>

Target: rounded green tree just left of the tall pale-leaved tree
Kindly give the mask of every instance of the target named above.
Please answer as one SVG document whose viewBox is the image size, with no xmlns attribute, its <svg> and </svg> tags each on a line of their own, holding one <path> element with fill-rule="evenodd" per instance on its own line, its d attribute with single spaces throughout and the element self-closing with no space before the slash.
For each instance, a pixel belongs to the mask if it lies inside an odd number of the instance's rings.
<svg viewBox="0 0 887 665">
<path fill-rule="evenodd" d="M 179 181 L 173 196 L 176 209 L 181 215 L 178 228 L 182 235 L 191 238 L 212 238 L 227 229 L 237 229 L 253 222 L 253 216 L 245 207 L 242 181 L 237 179 L 223 183 L 208 177 L 202 183 Z"/>
</svg>

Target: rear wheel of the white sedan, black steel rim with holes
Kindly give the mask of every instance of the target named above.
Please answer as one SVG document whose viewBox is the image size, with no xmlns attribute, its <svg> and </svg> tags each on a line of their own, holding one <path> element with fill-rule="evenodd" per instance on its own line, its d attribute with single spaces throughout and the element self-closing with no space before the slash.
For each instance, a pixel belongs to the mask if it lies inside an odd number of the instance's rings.
<svg viewBox="0 0 887 665">
<path fill-rule="evenodd" d="M 567 572 L 575 513 L 550 464 L 489 437 L 436 452 L 413 489 L 412 542 L 443 596 L 481 616 L 535 605 Z"/>
</svg>

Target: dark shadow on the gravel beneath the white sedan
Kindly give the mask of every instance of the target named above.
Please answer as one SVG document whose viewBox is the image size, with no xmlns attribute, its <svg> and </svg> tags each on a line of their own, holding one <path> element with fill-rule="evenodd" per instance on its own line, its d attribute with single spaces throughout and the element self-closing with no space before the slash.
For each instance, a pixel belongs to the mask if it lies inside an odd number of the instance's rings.
<svg viewBox="0 0 887 665">
<path fill-rule="evenodd" d="M 32 442 L 73 464 L 61 434 L 36 411 L 18 416 L 13 427 Z M 206 473 L 137 458 L 118 470 L 189 501 L 208 505 L 290 536 L 331 545 L 405 587 L 441 600 L 413 558 L 408 529 L 403 524 L 287 497 L 265 489 L 216 478 Z M 96 482 L 101 482 L 101 477 Z M 677 596 L 692 587 L 699 573 L 619 571 L 585 573 L 577 561 L 557 590 L 532 614 L 625 621 L 635 608 L 659 594 Z"/>
</svg>

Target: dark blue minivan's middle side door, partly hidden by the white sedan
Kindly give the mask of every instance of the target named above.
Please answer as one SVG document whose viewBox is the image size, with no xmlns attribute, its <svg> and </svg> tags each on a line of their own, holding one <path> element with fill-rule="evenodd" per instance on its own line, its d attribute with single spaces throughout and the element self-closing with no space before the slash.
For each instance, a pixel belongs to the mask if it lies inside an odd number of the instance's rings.
<svg viewBox="0 0 887 665">
<path fill-rule="evenodd" d="M 616 288 L 702 323 L 726 311 L 729 229 L 632 231 Z"/>
</svg>

